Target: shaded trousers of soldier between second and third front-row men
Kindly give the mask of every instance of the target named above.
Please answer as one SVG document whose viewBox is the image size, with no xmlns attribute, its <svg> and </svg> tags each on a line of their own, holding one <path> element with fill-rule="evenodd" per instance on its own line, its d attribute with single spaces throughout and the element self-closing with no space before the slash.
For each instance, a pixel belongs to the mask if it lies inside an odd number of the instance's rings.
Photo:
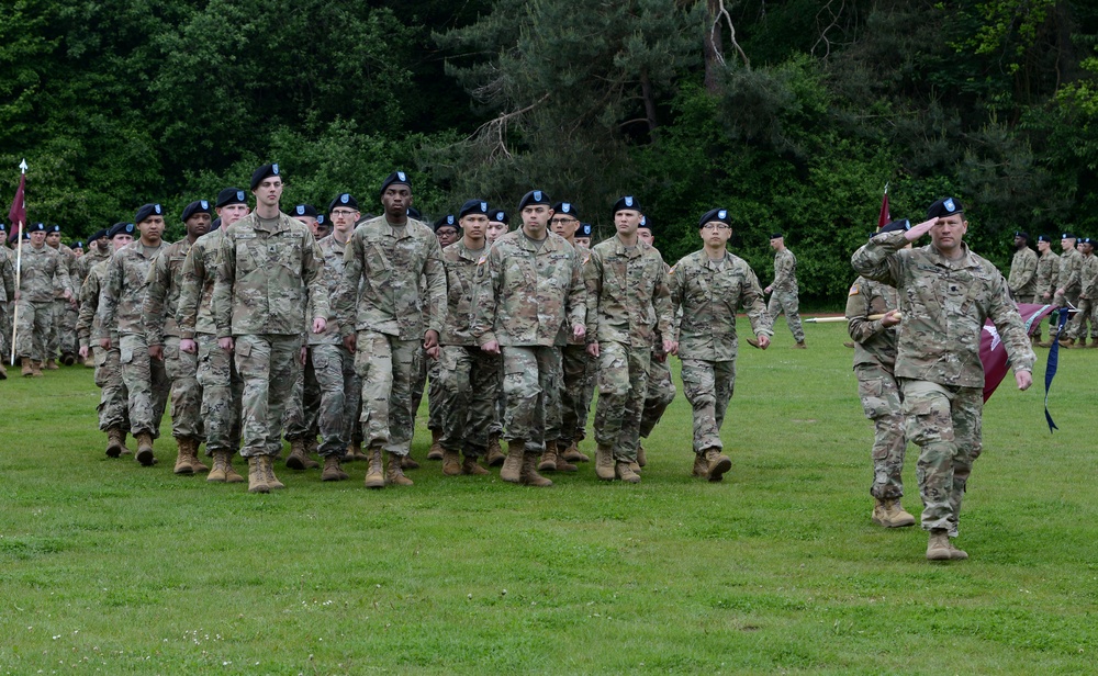
<svg viewBox="0 0 1098 676">
<path fill-rule="evenodd" d="M 495 420 L 500 356 L 477 346 L 448 345 L 438 360 L 444 449 L 481 457 Z"/>
</svg>

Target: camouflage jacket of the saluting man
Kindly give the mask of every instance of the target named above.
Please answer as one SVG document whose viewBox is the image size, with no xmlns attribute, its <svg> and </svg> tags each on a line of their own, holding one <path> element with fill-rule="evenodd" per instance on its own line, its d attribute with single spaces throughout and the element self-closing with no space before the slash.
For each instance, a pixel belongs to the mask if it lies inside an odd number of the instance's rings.
<svg viewBox="0 0 1098 676">
<path fill-rule="evenodd" d="M 877 235 L 851 259 L 860 274 L 895 286 L 899 294 L 904 320 L 896 378 L 983 387 L 979 338 L 987 318 L 1013 370 L 1032 371 L 1037 357 L 995 266 L 964 243 L 957 260 L 944 258 L 933 245 L 904 249 L 907 244 L 904 233 Z"/>
</svg>

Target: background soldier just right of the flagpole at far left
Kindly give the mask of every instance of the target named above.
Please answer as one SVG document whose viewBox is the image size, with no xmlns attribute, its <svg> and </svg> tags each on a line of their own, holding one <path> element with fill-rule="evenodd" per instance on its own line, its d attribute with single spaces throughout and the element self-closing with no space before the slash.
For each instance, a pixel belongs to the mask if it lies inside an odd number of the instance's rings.
<svg viewBox="0 0 1098 676">
<path fill-rule="evenodd" d="M 31 243 L 23 247 L 23 260 L 16 261 L 20 272 L 15 290 L 19 311 L 15 356 L 23 367 L 23 375 L 42 375 L 42 360 L 54 318 L 53 303 L 57 293 L 65 301 L 72 301 L 68 263 L 61 255 L 46 246 L 46 226 L 33 223 L 27 228 Z M 53 356 L 49 356 L 53 359 Z"/>
</svg>

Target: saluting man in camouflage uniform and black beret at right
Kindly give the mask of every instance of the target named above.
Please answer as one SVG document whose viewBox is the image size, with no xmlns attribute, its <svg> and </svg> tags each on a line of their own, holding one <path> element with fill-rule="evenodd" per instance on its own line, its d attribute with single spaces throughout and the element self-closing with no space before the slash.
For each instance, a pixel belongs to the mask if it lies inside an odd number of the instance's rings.
<svg viewBox="0 0 1098 676">
<path fill-rule="evenodd" d="M 931 561 L 968 557 L 950 538 L 957 534 L 965 485 L 982 450 L 985 319 L 999 331 L 1018 388 L 1033 383 L 1035 357 L 1007 282 L 964 244 L 967 229 L 961 203 L 946 198 L 930 205 L 927 221 L 873 237 L 851 260 L 859 274 L 895 286 L 900 298 L 895 373 L 907 438 L 920 450 L 917 475 Z M 928 246 L 905 249 L 928 233 Z"/>
</svg>

